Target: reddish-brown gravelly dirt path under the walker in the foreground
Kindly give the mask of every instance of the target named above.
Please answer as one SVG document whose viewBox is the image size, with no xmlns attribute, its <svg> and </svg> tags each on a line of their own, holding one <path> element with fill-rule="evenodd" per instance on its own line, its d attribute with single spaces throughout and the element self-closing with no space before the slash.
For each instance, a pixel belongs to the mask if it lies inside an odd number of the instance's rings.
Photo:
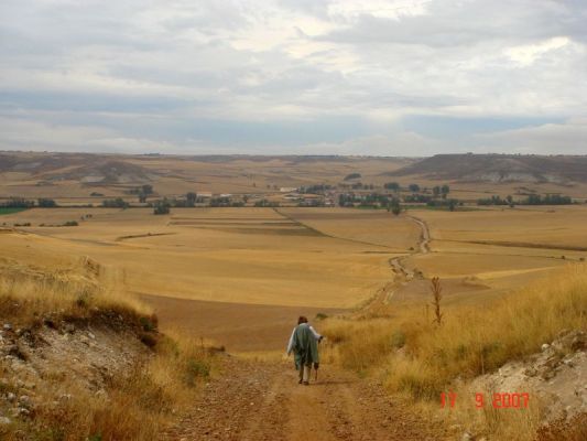
<svg viewBox="0 0 587 441">
<path fill-rule="evenodd" d="M 439 440 L 442 431 L 385 396 L 380 385 L 323 366 L 297 384 L 291 363 L 227 357 L 191 415 L 164 440 Z"/>
</svg>

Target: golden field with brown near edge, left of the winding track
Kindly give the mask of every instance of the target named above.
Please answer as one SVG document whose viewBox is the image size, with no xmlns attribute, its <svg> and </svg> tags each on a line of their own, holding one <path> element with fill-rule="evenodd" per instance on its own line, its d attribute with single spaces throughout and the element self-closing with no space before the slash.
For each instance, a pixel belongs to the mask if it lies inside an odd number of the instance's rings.
<svg viewBox="0 0 587 441">
<path fill-rule="evenodd" d="M 39 226 L 72 219 L 79 226 Z M 232 347 L 281 347 L 283 332 L 301 312 L 330 313 L 365 302 L 389 280 L 388 260 L 396 255 L 324 236 L 271 208 L 185 208 L 170 216 L 146 208 L 34 208 L 2 216 L 2 222 L 32 225 L 1 235 L 6 255 L 48 267 L 89 256 L 117 268 L 129 292 L 159 304 L 163 327 L 211 330 L 205 336 Z M 401 223 L 411 225 L 409 219 L 391 225 Z M 177 308 L 170 309 L 162 305 L 164 298 L 204 303 L 171 303 Z M 246 335 L 238 332 L 247 326 Z M 257 329 L 278 331 L 264 343 L 257 336 L 251 343 Z"/>
</svg>

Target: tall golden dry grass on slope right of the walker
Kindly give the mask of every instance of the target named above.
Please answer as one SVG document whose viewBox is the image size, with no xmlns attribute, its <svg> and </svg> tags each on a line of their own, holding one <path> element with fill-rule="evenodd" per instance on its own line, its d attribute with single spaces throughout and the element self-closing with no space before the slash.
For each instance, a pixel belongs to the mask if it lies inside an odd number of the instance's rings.
<svg viewBox="0 0 587 441">
<path fill-rule="evenodd" d="M 338 343 L 344 365 L 361 370 L 385 362 L 391 390 L 437 400 L 457 377 L 471 378 L 539 352 L 564 329 L 585 329 L 585 292 L 587 270 L 576 265 L 492 308 L 448 308 L 442 326 L 426 321 L 421 309 L 410 309 L 388 320 L 327 322 L 325 334 Z M 399 346 L 402 351 L 395 351 Z"/>
</svg>

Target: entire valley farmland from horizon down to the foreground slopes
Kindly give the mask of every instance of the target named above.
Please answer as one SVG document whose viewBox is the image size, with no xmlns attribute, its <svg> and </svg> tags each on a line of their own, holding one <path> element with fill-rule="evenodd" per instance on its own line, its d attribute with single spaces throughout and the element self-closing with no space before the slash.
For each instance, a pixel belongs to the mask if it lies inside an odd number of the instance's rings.
<svg viewBox="0 0 587 441">
<path fill-rule="evenodd" d="M 281 348 L 301 313 L 393 314 L 426 302 L 433 277 L 445 303 L 480 304 L 587 256 L 586 183 L 580 170 L 565 174 L 565 158 L 1 158 L 2 258 L 61 268 L 89 257 L 163 329 L 236 351 Z M 528 179 L 461 180 L 459 161 Z M 575 203 L 513 203 L 555 193 Z M 475 203 L 490 195 L 510 195 L 511 206 Z M 403 201 L 398 216 L 393 200 Z M 161 201 L 170 213 L 154 215 Z"/>
</svg>

